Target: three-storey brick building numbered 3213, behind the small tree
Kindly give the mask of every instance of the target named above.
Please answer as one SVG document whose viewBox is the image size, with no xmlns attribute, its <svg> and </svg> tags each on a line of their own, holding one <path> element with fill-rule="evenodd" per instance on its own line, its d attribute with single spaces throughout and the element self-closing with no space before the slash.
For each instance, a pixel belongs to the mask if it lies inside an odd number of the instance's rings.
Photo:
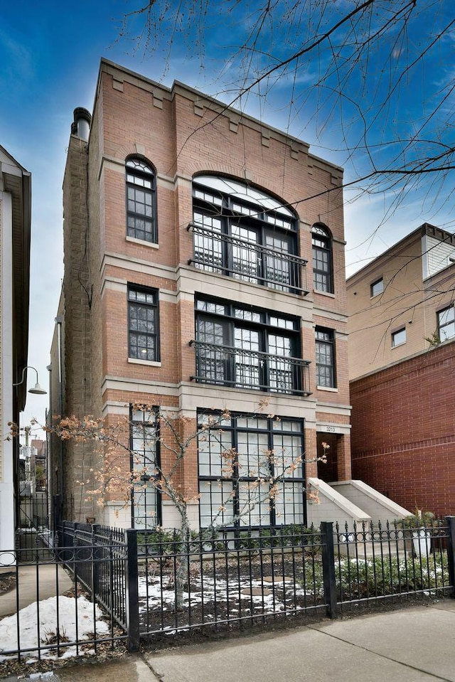
<svg viewBox="0 0 455 682">
<path fill-rule="evenodd" d="M 297 467 L 279 509 L 255 508 L 242 523 L 311 520 L 306 481 L 350 478 L 341 187 L 341 169 L 299 139 L 179 82 L 169 89 L 102 60 L 93 114 L 75 110 L 68 148 L 50 417 L 112 423 L 146 403 L 186 417 L 191 431 L 227 407 L 223 447 L 241 452 L 242 471 L 220 486 L 216 439 L 194 448 L 181 485 L 195 527 L 219 513 L 235 476 L 253 476 L 263 449 L 314 460 L 326 441 L 325 469 Z M 264 398 L 262 415 L 237 420 Z M 150 453 L 137 440 L 145 464 Z M 122 500 L 87 502 L 97 455 L 87 443 L 59 447 L 50 481 L 65 516 L 178 524 L 146 477 L 133 518 Z"/>
</svg>

